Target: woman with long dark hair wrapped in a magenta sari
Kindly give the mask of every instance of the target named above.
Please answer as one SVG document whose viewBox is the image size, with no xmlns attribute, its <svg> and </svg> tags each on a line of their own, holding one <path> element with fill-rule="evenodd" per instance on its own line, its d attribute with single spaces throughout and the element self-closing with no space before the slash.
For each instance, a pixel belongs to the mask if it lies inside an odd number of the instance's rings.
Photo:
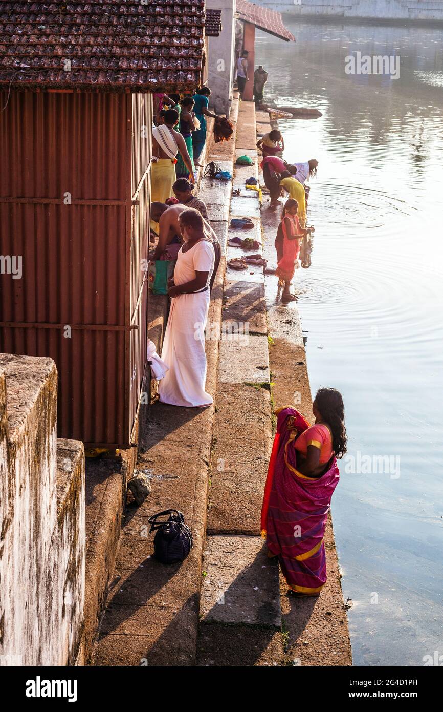
<svg viewBox="0 0 443 712">
<path fill-rule="evenodd" d="M 277 410 L 263 498 L 261 528 L 268 556 L 278 556 L 295 595 L 318 596 L 324 587 L 324 534 L 346 454 L 343 398 L 335 388 L 316 393 L 310 426 L 292 407 Z"/>
</svg>

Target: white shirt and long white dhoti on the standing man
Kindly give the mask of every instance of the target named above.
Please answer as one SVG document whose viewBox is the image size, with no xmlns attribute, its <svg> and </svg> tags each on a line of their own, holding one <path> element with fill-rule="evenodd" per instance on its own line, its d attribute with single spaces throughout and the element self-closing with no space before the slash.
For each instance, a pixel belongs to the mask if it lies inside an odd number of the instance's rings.
<svg viewBox="0 0 443 712">
<path fill-rule="evenodd" d="M 213 246 L 204 241 L 186 253 L 178 253 L 174 282 L 183 284 L 195 277 L 195 269 L 209 276 L 214 264 Z M 210 292 L 181 294 L 171 302 L 168 325 L 164 335 L 161 359 L 169 371 L 159 383 L 162 403 L 203 407 L 213 402 L 205 391 L 206 353 L 205 328 L 208 320 Z"/>
</svg>

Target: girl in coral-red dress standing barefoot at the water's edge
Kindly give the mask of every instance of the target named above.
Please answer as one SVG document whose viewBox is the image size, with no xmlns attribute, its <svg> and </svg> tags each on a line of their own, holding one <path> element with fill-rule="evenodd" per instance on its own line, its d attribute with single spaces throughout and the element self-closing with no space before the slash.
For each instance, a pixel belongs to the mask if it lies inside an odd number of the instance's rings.
<svg viewBox="0 0 443 712">
<path fill-rule="evenodd" d="M 291 293 L 291 280 L 294 277 L 296 266 L 299 266 L 298 259 L 300 253 L 301 239 L 306 236 L 307 230 L 302 230 L 297 210 L 299 204 L 297 200 L 289 198 L 284 205 L 282 221 L 277 230 L 275 248 L 277 250 L 277 271 L 279 283 L 284 283 L 282 301 L 292 302 L 297 297 Z"/>
</svg>

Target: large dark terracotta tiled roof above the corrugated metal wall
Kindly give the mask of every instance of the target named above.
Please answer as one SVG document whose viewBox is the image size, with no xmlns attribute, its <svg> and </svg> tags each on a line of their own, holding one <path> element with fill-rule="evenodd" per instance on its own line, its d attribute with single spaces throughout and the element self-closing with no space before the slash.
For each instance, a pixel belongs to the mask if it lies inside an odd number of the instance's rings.
<svg viewBox="0 0 443 712">
<path fill-rule="evenodd" d="M 204 0 L 1 1 L 0 86 L 193 88 L 204 23 Z"/>
</svg>

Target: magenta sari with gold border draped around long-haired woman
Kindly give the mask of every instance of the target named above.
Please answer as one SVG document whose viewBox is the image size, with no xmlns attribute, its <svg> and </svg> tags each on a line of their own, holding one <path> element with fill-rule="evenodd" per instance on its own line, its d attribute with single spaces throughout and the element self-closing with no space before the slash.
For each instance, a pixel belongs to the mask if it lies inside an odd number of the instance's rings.
<svg viewBox="0 0 443 712">
<path fill-rule="evenodd" d="M 334 457 L 321 477 L 302 475 L 297 470 L 294 440 L 309 423 L 289 406 L 276 414 L 277 433 L 262 506 L 262 534 L 269 552 L 279 557 L 289 587 L 316 596 L 326 583 L 324 533 L 340 473 Z"/>
</svg>

